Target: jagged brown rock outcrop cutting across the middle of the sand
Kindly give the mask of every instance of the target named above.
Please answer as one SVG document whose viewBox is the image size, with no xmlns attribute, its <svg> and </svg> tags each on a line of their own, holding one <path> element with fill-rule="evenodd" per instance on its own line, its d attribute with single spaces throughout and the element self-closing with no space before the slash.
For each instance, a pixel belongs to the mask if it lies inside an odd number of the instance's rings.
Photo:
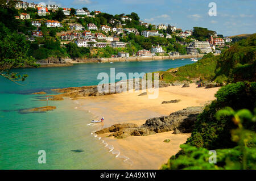
<svg viewBox="0 0 256 181">
<path fill-rule="evenodd" d="M 126 138 L 129 136 L 148 136 L 150 134 L 174 131 L 174 134 L 190 133 L 195 125 L 203 107 L 188 107 L 171 113 L 169 116 L 148 119 L 145 124 L 138 127 L 136 124 L 114 124 L 112 127 L 101 129 L 96 134 L 112 133 L 109 136 Z"/>
</svg>

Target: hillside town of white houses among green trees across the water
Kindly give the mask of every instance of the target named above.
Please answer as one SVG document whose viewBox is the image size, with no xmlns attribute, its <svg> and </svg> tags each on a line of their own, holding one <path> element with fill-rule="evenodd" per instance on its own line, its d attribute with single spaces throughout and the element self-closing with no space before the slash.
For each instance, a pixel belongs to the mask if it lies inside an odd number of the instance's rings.
<svg viewBox="0 0 256 181">
<path fill-rule="evenodd" d="M 51 39 L 60 41 L 61 46 L 76 44 L 91 52 L 107 47 L 117 49 L 111 57 L 221 53 L 232 43 L 229 37 L 217 35 L 207 28 L 200 29 L 207 30 L 207 34 L 201 37 L 195 28 L 183 31 L 170 24 L 146 23 L 134 12 L 109 15 L 100 10 L 89 11 L 86 7 L 73 9 L 22 1 L 16 2 L 15 9 L 20 13 L 15 19 L 34 27 L 30 33 L 25 33 L 27 40 L 40 44 L 41 39 Z M 104 53 L 98 53 L 99 56 L 104 56 Z"/>
</svg>

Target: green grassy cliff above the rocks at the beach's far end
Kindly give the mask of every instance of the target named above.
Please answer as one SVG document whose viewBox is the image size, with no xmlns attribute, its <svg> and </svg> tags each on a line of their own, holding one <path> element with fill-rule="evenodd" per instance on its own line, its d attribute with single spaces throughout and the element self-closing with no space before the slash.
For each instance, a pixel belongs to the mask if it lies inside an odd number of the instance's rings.
<svg viewBox="0 0 256 181">
<path fill-rule="evenodd" d="M 216 83 L 256 81 L 256 33 L 226 49 L 220 56 L 205 55 L 194 64 L 159 71 L 159 79 L 175 82 L 201 78 Z"/>
</svg>

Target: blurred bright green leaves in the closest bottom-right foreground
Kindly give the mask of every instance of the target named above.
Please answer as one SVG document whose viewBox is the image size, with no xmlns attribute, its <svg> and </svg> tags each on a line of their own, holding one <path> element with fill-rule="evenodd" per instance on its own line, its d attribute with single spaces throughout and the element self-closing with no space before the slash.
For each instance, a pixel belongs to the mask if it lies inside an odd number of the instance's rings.
<svg viewBox="0 0 256 181">
<path fill-rule="evenodd" d="M 172 156 L 162 169 L 256 169 L 256 133 L 243 128 L 243 123 L 255 124 L 256 110 L 254 115 L 249 110 L 234 111 L 227 107 L 216 113 L 218 121 L 223 117 L 230 117 L 236 129 L 231 130 L 231 137 L 237 146 L 228 149 L 216 149 L 216 164 L 209 163 L 212 154 L 208 149 L 196 146 L 180 145 L 179 154 Z"/>
</svg>

